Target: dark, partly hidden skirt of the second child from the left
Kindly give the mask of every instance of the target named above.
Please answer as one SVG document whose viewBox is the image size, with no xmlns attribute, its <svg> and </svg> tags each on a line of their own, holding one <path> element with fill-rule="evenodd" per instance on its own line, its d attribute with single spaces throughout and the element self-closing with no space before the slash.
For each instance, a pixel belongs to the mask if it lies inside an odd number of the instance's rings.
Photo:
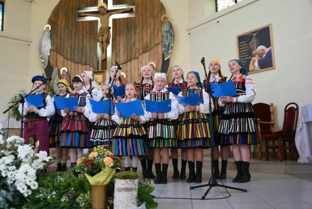
<svg viewBox="0 0 312 209">
<path fill-rule="evenodd" d="M 63 117 L 58 113 L 54 114 L 49 120 L 49 141 L 50 148 L 55 147 L 60 141 L 60 126 L 62 125 Z"/>
</svg>

